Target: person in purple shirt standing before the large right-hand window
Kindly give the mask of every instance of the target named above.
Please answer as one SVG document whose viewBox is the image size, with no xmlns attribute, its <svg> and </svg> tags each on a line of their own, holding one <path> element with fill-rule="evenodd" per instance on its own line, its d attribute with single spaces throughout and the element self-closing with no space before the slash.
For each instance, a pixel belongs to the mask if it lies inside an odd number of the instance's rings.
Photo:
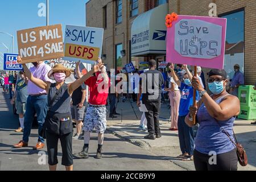
<svg viewBox="0 0 256 182">
<path fill-rule="evenodd" d="M 245 85 L 245 77 L 243 76 L 243 73 L 240 72 L 240 65 L 236 64 L 234 65 L 234 76 L 232 78 L 231 81 L 231 88 L 230 88 L 230 93 L 233 96 L 237 96 L 238 97 L 238 88 L 241 85 Z"/>
</svg>

